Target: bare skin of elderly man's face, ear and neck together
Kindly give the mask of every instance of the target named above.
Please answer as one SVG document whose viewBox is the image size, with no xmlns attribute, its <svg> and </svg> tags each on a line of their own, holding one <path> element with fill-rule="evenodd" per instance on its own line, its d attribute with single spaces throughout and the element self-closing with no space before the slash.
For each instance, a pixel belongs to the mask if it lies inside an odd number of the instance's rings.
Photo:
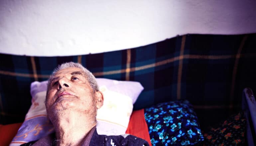
<svg viewBox="0 0 256 146">
<path fill-rule="evenodd" d="M 57 145 L 80 145 L 96 125 L 96 112 L 103 94 L 94 92 L 81 69 L 59 70 L 49 83 L 46 110 L 52 121 Z"/>
</svg>

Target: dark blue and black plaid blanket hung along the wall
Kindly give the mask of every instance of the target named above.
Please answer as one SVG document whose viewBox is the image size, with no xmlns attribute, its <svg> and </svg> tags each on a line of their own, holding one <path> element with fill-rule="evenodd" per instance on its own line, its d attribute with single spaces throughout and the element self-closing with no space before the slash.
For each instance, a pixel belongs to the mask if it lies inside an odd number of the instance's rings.
<svg viewBox="0 0 256 146">
<path fill-rule="evenodd" d="M 81 63 L 95 77 L 140 82 L 144 91 L 134 109 L 187 99 L 201 127 L 239 110 L 244 88 L 256 91 L 256 34 L 184 35 L 79 56 L 0 54 L 0 123 L 22 122 L 31 105 L 31 82 L 47 80 L 58 64 L 68 61 Z"/>
</svg>

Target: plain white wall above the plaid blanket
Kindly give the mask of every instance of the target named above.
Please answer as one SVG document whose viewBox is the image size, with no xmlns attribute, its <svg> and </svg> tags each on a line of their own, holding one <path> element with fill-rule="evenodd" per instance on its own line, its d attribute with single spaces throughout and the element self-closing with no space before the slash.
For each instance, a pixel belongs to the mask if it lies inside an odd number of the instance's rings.
<svg viewBox="0 0 256 146">
<path fill-rule="evenodd" d="M 65 56 L 256 32 L 255 0 L 0 0 L 0 52 Z"/>
</svg>

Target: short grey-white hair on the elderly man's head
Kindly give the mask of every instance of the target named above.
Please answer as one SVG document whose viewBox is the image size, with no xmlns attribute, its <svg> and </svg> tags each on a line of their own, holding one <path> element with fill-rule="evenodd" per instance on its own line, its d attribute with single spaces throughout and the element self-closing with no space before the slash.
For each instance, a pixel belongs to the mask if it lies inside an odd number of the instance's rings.
<svg viewBox="0 0 256 146">
<path fill-rule="evenodd" d="M 87 78 L 87 81 L 89 82 L 91 88 L 93 89 L 93 92 L 99 91 L 99 87 L 98 87 L 98 84 L 96 82 L 96 78 L 94 77 L 94 75 L 88 69 L 83 67 L 80 63 L 66 62 L 66 63 L 63 63 L 63 64 L 59 65 L 58 67 L 56 67 L 54 69 L 52 75 L 50 76 L 50 78 L 48 80 L 47 93 L 48 93 L 48 90 L 49 90 L 51 77 L 54 76 L 59 70 L 69 68 L 69 67 L 76 67 L 76 68 L 81 69 L 84 72 L 85 77 Z"/>
</svg>

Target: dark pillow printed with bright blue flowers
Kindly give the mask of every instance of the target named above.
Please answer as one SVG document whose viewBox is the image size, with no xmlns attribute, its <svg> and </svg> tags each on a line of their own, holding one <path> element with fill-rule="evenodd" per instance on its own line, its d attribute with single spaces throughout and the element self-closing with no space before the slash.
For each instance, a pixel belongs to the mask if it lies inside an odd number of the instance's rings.
<svg viewBox="0 0 256 146">
<path fill-rule="evenodd" d="M 161 103 L 144 112 L 152 146 L 197 145 L 203 141 L 197 116 L 187 100 Z"/>
</svg>

